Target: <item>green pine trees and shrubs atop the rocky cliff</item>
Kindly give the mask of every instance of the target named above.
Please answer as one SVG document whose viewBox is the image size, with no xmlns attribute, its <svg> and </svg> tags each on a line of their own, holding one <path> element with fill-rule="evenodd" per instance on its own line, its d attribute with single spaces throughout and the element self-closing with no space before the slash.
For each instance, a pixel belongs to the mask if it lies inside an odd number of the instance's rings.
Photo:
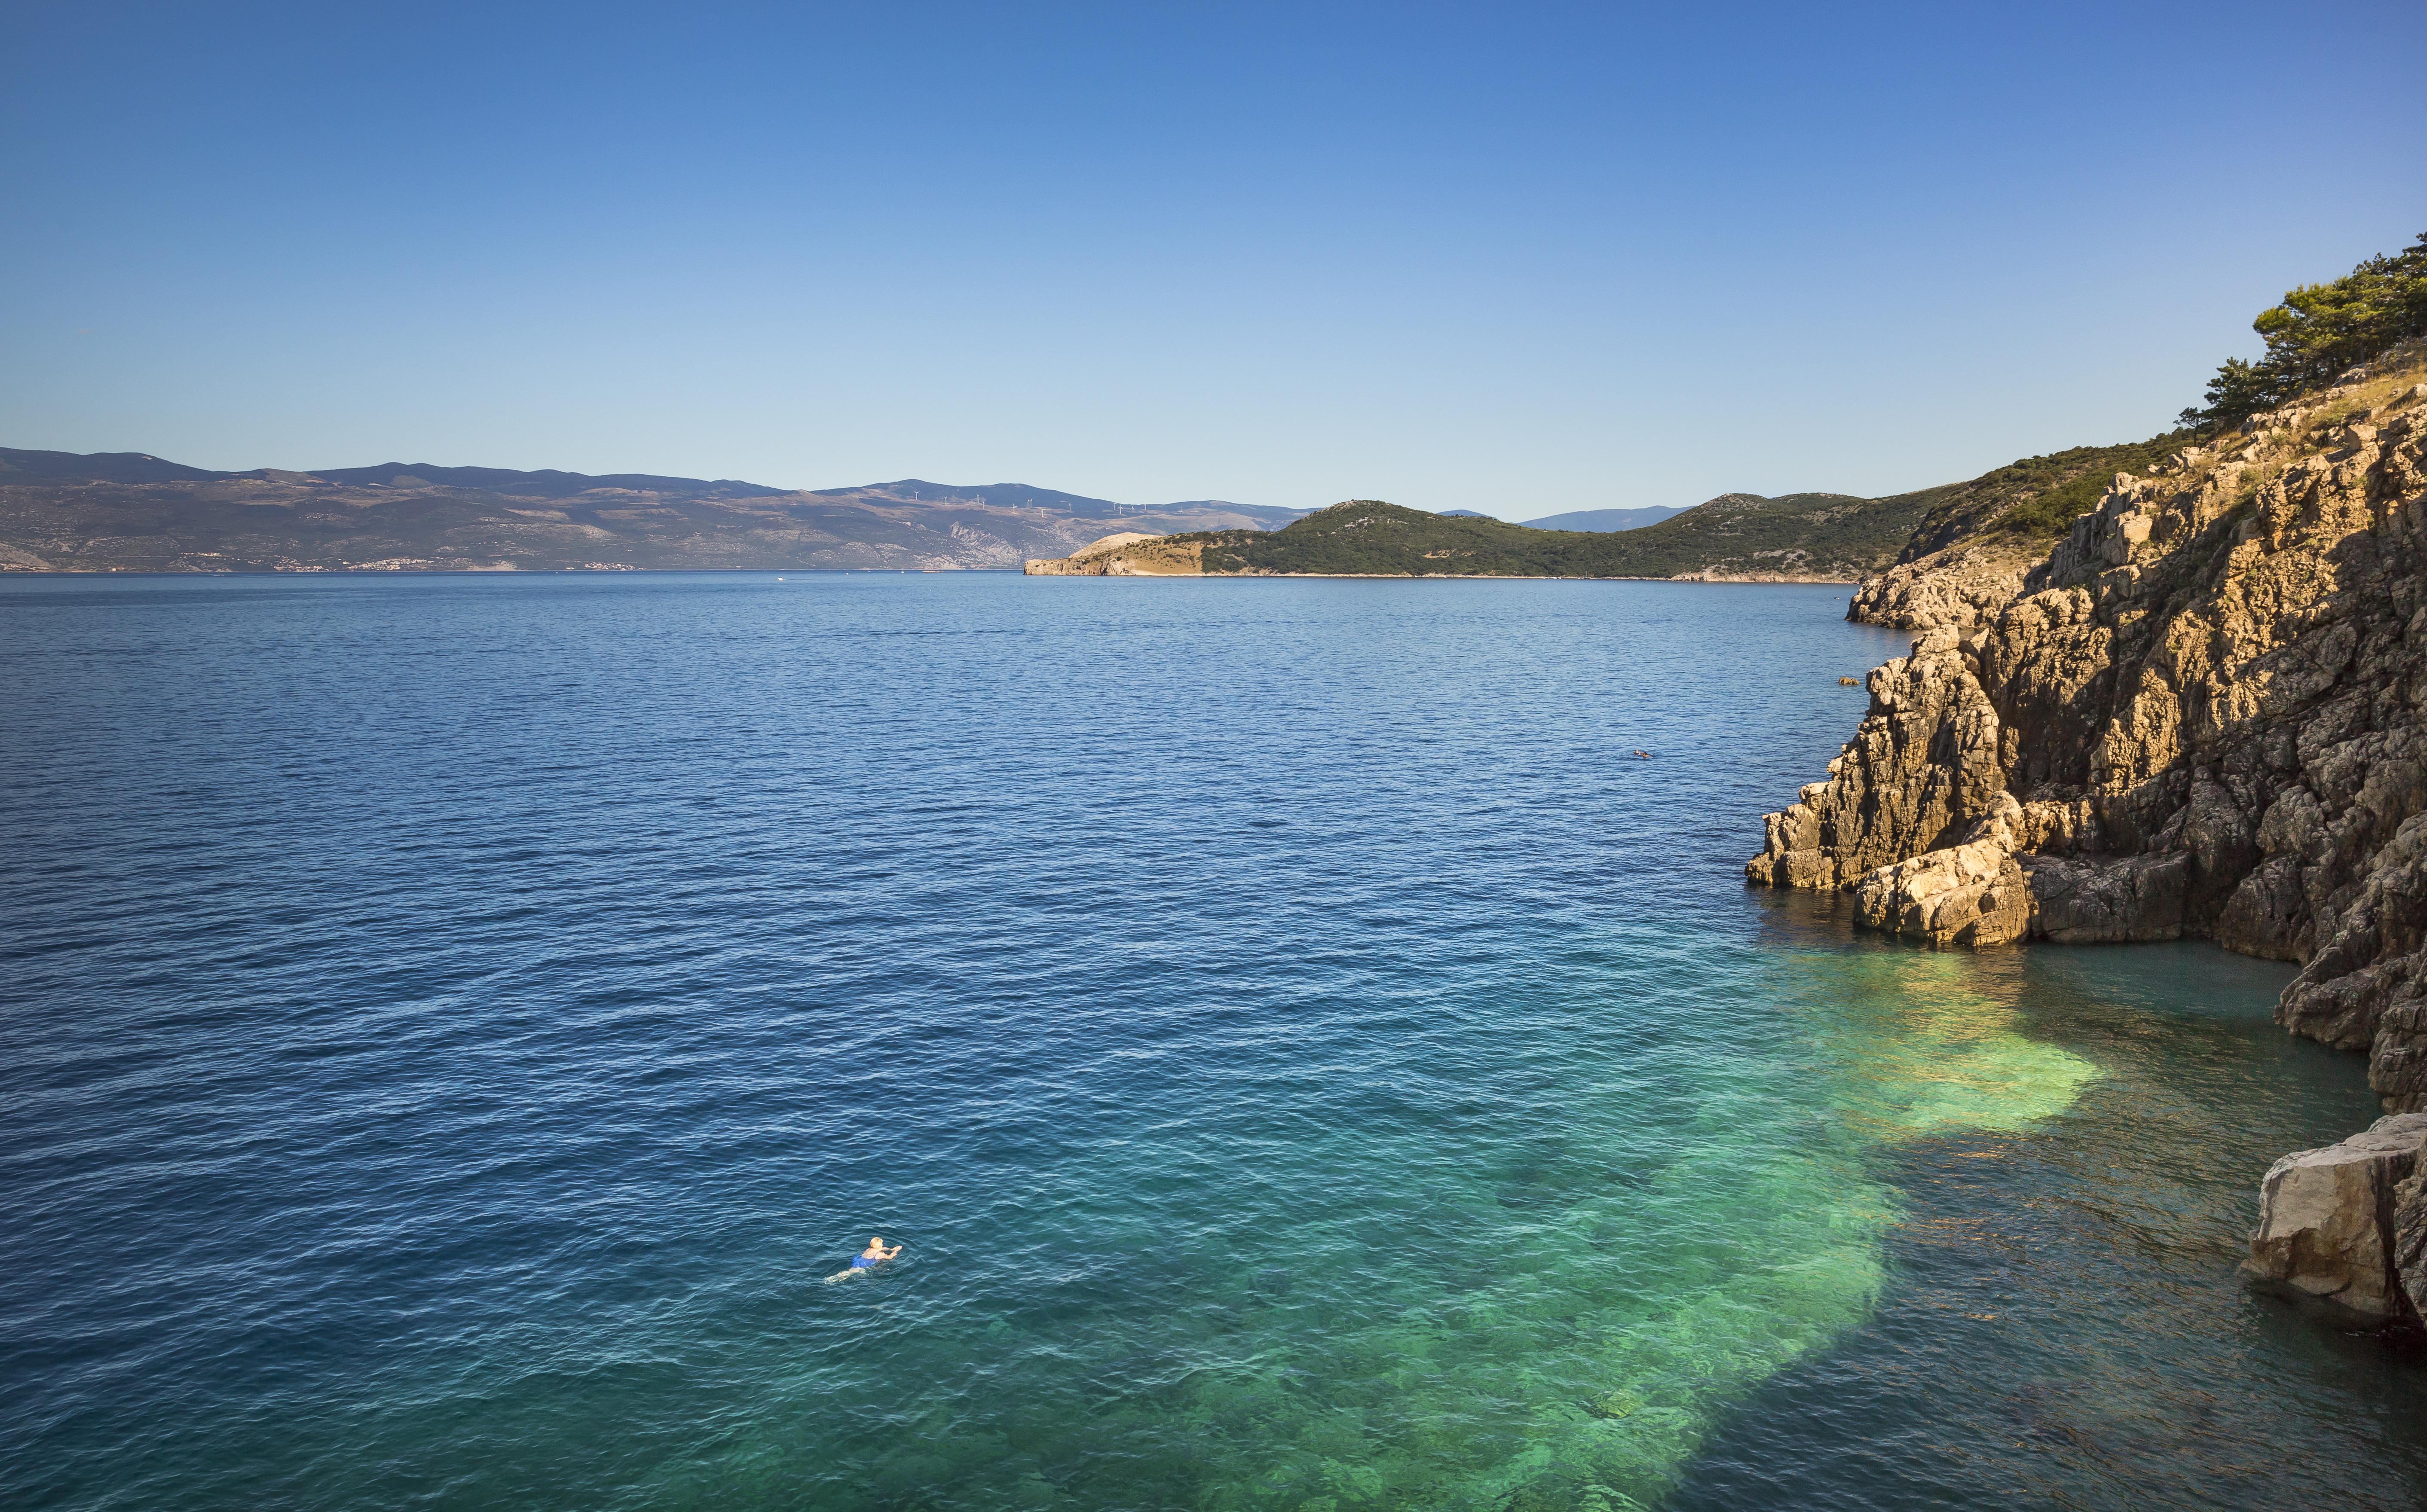
<svg viewBox="0 0 2427 1512">
<path fill-rule="evenodd" d="M 2184 425 L 2204 432 L 2240 425 L 2386 347 L 2427 335 L 2427 233 L 2340 279 L 2286 291 L 2250 328 L 2267 340 L 2267 354 L 2257 362 L 2228 357 L 2209 379 L 2209 403 L 2187 408 Z"/>
</svg>

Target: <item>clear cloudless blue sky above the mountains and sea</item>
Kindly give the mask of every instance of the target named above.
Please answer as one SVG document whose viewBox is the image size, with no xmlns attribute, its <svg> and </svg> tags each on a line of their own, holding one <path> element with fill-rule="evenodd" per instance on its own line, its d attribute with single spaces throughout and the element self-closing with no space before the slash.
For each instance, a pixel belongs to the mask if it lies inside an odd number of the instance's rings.
<svg viewBox="0 0 2427 1512">
<path fill-rule="evenodd" d="M 1512 519 L 2162 430 L 2427 7 L 0 12 L 0 444 Z"/>
</svg>

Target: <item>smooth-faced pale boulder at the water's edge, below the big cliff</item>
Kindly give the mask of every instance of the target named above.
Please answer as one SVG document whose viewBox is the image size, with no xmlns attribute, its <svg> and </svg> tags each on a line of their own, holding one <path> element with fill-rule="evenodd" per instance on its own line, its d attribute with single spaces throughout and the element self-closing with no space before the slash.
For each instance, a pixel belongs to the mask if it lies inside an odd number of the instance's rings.
<svg viewBox="0 0 2427 1512">
<path fill-rule="evenodd" d="M 2260 1184 L 2260 1226 L 2243 1269 L 2364 1318 L 2417 1318 L 2408 1279 L 2417 1272 L 2427 1281 L 2420 1146 L 2427 1114 L 2393 1114 L 2340 1146 L 2277 1160 Z M 2415 1230 L 2408 1250 L 2405 1216 Z"/>
</svg>

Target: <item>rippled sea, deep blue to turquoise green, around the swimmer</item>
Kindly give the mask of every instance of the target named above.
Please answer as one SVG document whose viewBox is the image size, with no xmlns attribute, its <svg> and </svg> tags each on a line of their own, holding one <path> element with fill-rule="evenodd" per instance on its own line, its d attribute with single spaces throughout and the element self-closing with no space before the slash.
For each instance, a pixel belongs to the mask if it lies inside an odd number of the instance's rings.
<svg viewBox="0 0 2427 1512">
<path fill-rule="evenodd" d="M 5 1483 L 2420 1505 L 2412 1354 L 2233 1277 L 2371 1112 L 2281 968 L 1740 886 L 1840 607 L 0 580 Z"/>
</svg>

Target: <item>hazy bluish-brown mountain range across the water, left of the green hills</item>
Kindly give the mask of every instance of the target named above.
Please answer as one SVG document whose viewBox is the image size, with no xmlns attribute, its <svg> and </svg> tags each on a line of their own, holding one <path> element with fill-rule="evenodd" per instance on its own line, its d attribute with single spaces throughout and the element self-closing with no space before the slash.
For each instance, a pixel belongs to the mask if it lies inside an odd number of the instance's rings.
<svg viewBox="0 0 2427 1512">
<path fill-rule="evenodd" d="M 1017 568 L 1109 532 L 1260 532 L 1298 515 L 1027 483 L 786 490 L 403 461 L 218 473 L 0 447 L 0 568 L 15 570 Z"/>
</svg>

